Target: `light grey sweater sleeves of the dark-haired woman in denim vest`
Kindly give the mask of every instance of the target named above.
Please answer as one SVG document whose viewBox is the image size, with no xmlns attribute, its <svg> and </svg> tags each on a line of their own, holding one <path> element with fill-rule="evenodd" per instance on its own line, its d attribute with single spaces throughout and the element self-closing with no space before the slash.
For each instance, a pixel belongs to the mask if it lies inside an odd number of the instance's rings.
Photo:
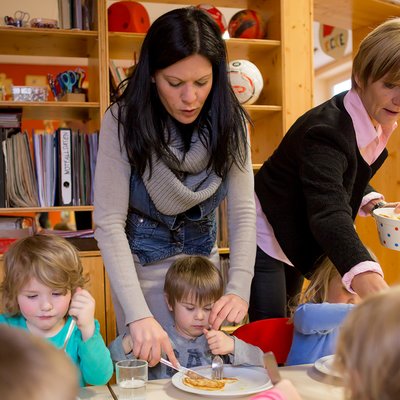
<svg viewBox="0 0 400 400">
<path fill-rule="evenodd" d="M 113 293 L 128 324 L 152 316 L 135 273 L 125 234 L 131 166 L 118 140 L 117 122 L 108 110 L 100 132 L 95 174 L 94 222 Z M 244 170 L 233 165 L 228 173 L 228 230 L 230 269 L 226 293 L 248 301 L 256 253 L 254 178 L 251 158 Z M 146 267 L 146 268 L 151 268 Z"/>
</svg>

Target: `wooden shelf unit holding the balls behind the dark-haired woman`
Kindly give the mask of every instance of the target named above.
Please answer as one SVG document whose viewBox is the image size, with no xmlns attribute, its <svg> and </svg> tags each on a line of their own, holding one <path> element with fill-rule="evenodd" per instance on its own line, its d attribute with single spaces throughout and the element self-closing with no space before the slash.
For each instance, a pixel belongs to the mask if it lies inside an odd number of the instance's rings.
<svg viewBox="0 0 400 400">
<path fill-rule="evenodd" d="M 169 3 L 146 1 L 143 5 L 155 2 Z M 185 6 L 187 1 L 173 4 Z M 216 0 L 213 5 L 232 7 L 225 0 Z M 254 9 L 267 20 L 268 34 L 264 40 L 226 40 L 230 61 L 250 60 L 264 77 L 258 101 L 245 106 L 255 126 L 251 136 L 253 162 L 262 163 L 272 154 L 287 128 L 312 106 L 312 3 L 309 0 L 249 0 L 235 2 L 235 8 Z M 109 32 L 109 59 L 133 60 L 135 54 L 138 58 L 143 38 L 144 34 Z"/>
</svg>

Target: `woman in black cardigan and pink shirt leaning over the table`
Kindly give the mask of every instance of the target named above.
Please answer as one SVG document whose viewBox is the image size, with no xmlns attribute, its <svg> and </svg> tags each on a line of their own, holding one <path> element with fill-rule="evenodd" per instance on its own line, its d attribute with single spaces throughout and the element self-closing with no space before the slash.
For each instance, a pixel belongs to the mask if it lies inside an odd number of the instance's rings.
<svg viewBox="0 0 400 400">
<path fill-rule="evenodd" d="M 399 118 L 400 18 L 394 18 L 361 42 L 351 90 L 302 115 L 255 175 L 251 321 L 286 316 L 287 298 L 325 255 L 359 296 L 387 288 L 354 220 L 385 204 L 370 180 L 388 157 Z"/>
</svg>

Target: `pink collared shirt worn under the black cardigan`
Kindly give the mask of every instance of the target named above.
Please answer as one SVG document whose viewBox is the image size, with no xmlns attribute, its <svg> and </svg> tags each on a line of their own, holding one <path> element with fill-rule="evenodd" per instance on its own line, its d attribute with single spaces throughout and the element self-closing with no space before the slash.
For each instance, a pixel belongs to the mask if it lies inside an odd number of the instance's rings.
<svg viewBox="0 0 400 400">
<path fill-rule="evenodd" d="M 368 165 L 371 165 L 386 147 L 392 132 L 397 127 L 397 122 L 390 128 L 378 125 L 375 129 L 360 97 L 353 89 L 347 92 L 345 95 L 344 107 L 353 121 L 354 130 L 356 132 L 357 146 L 360 150 L 360 153 Z M 371 200 L 383 198 L 383 195 L 380 193 L 368 193 L 366 196 L 364 196 L 361 202 L 359 215 L 367 216 L 368 213 L 363 210 L 363 207 Z M 279 246 L 272 226 L 262 211 L 257 195 L 255 195 L 255 201 L 257 214 L 257 245 L 269 256 L 293 266 L 283 252 L 282 248 Z M 343 285 L 347 290 L 354 293 L 354 291 L 351 289 L 352 279 L 354 276 L 366 271 L 376 272 L 383 277 L 382 268 L 377 262 L 363 261 L 355 265 L 343 276 Z"/>
</svg>

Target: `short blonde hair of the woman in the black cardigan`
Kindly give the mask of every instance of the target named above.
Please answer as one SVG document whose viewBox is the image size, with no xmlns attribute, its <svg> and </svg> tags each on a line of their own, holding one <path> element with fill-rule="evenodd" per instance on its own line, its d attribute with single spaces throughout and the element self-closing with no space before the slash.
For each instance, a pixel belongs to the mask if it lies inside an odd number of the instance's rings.
<svg viewBox="0 0 400 400">
<path fill-rule="evenodd" d="M 365 87 L 385 77 L 400 85 L 400 18 L 389 19 L 370 32 L 360 44 L 353 60 L 352 86 Z"/>
</svg>

